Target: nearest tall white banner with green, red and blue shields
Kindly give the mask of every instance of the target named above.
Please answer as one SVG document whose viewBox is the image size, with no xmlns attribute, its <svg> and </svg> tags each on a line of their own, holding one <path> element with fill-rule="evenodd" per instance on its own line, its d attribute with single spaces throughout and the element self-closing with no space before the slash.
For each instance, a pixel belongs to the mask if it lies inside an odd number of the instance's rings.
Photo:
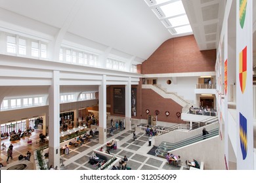
<svg viewBox="0 0 256 183">
<path fill-rule="evenodd" d="M 252 2 L 252 0 L 236 1 L 237 169 L 254 169 Z"/>
</svg>

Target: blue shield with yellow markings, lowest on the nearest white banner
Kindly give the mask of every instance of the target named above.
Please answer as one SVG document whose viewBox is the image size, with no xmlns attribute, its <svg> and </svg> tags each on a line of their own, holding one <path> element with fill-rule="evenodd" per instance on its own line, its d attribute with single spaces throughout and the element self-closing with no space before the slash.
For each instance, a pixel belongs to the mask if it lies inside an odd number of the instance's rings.
<svg viewBox="0 0 256 183">
<path fill-rule="evenodd" d="M 243 155 L 243 159 L 247 156 L 247 119 L 239 112 L 240 125 L 239 125 L 239 137 L 240 147 Z"/>
</svg>

